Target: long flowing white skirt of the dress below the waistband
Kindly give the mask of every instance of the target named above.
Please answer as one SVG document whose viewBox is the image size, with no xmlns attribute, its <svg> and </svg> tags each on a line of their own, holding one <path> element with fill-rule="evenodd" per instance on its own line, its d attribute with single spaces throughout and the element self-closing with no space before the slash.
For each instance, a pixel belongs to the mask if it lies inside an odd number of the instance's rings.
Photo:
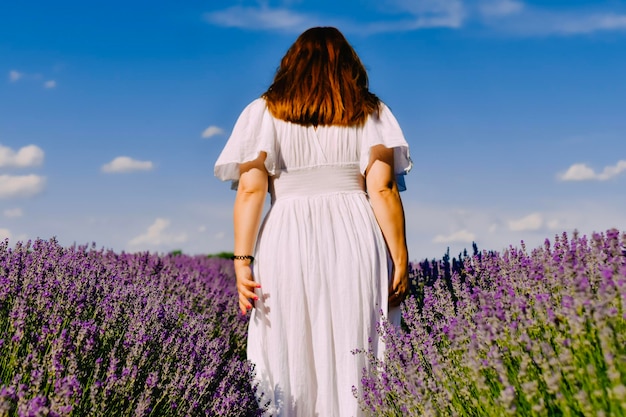
<svg viewBox="0 0 626 417">
<path fill-rule="evenodd" d="M 306 194 L 306 193 L 304 193 Z M 248 330 L 259 403 L 268 415 L 356 417 L 376 332 L 387 313 L 389 259 L 365 192 L 273 201 L 257 241 L 259 300 Z M 394 312 L 397 320 L 398 312 Z M 354 388 L 353 388 L 354 387 Z"/>
</svg>

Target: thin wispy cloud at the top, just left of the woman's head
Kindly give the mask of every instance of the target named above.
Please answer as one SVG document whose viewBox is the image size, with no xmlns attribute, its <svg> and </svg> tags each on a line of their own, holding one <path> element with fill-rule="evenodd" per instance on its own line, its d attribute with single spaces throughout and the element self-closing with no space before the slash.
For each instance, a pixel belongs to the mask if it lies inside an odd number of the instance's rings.
<svg viewBox="0 0 626 417">
<path fill-rule="evenodd" d="M 269 6 L 233 6 L 206 13 L 205 19 L 218 26 L 240 29 L 301 30 L 312 26 L 314 19 L 285 8 Z"/>
</svg>

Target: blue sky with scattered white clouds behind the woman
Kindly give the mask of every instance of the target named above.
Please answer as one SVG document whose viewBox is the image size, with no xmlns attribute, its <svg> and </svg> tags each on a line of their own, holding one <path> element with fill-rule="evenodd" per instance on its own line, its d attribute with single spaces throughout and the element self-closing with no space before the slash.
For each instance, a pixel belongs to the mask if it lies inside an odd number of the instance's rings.
<svg viewBox="0 0 626 417">
<path fill-rule="evenodd" d="M 231 250 L 213 164 L 318 25 L 411 146 L 411 259 L 625 229 L 624 1 L 30 1 L 0 4 L 0 237 Z"/>
</svg>

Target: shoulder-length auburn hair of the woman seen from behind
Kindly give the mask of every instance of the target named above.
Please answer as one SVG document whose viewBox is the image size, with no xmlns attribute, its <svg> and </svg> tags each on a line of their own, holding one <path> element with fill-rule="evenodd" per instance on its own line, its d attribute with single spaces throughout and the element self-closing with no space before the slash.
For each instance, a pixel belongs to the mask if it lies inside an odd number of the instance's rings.
<svg viewBox="0 0 626 417">
<path fill-rule="evenodd" d="M 274 117 L 305 126 L 361 125 L 380 108 L 359 56 L 333 27 L 298 37 L 263 98 Z"/>
</svg>

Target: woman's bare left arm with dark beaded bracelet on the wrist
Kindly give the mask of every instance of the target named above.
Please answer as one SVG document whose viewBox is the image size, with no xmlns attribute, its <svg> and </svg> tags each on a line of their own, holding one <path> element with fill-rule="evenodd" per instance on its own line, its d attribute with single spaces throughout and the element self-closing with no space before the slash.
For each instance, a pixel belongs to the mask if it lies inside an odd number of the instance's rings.
<svg viewBox="0 0 626 417">
<path fill-rule="evenodd" d="M 252 255 L 254 251 L 267 194 L 268 178 L 264 165 L 266 157 L 267 154 L 261 152 L 254 161 L 239 166 L 239 186 L 233 209 L 235 255 Z M 241 314 L 246 314 L 248 309 L 252 308 L 250 300 L 257 299 L 254 289 L 260 285 L 254 282 L 249 260 L 235 259 L 233 262 L 237 277 L 239 309 Z"/>
</svg>

